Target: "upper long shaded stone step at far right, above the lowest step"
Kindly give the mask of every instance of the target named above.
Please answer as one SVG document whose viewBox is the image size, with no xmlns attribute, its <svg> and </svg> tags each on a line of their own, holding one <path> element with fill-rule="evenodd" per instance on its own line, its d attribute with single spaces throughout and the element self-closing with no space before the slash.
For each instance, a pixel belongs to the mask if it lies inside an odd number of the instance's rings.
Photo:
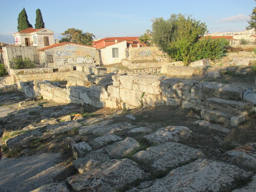
<svg viewBox="0 0 256 192">
<path fill-rule="evenodd" d="M 206 107 L 211 110 L 218 110 L 226 113 L 248 115 L 253 111 L 253 103 L 247 101 L 233 101 L 220 98 L 206 99 Z"/>
</svg>

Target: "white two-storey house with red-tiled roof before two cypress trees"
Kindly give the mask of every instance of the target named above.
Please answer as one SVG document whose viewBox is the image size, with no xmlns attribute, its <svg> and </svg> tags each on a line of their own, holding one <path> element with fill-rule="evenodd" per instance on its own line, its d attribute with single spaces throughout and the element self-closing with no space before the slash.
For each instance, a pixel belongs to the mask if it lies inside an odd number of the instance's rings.
<svg viewBox="0 0 256 192">
<path fill-rule="evenodd" d="M 28 28 L 14 33 L 15 46 L 36 46 L 38 49 L 54 44 L 54 32 L 46 29 Z"/>
</svg>

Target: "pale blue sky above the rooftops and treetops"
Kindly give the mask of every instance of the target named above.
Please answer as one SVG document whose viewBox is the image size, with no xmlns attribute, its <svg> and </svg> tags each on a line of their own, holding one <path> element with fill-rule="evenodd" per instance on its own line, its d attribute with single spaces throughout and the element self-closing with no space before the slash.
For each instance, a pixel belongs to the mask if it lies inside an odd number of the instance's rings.
<svg viewBox="0 0 256 192">
<path fill-rule="evenodd" d="M 30 24 L 35 25 L 35 11 L 40 9 L 45 27 L 60 33 L 68 28 L 90 32 L 96 38 L 139 36 L 150 29 L 154 17 L 169 18 L 172 13 L 193 15 L 205 22 L 210 33 L 243 31 L 249 14 L 256 7 L 254 0 L 96 0 L 96 1 L 27 1 L 0 0 L 0 42 L 13 43 L 17 17 L 26 9 Z"/>
</svg>

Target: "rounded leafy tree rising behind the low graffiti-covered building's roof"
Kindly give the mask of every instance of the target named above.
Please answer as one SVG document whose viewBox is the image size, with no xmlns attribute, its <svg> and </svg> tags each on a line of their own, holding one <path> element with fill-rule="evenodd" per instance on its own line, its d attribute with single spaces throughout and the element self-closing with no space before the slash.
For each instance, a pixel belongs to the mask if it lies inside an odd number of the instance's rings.
<svg viewBox="0 0 256 192">
<path fill-rule="evenodd" d="M 65 37 L 61 38 L 59 42 L 74 42 L 76 44 L 88 45 L 91 46 L 93 42 L 92 33 L 83 33 L 82 30 L 70 28 L 67 29 L 64 33 L 61 33 Z"/>
</svg>

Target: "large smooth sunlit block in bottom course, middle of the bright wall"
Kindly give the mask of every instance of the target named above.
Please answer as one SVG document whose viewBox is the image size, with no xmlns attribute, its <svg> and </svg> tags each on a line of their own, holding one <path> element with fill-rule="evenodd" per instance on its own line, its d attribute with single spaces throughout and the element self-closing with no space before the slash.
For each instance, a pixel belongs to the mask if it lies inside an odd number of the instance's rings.
<svg viewBox="0 0 256 192">
<path fill-rule="evenodd" d="M 130 89 L 120 89 L 120 97 L 124 103 L 141 106 L 142 91 L 134 91 Z"/>
</svg>

